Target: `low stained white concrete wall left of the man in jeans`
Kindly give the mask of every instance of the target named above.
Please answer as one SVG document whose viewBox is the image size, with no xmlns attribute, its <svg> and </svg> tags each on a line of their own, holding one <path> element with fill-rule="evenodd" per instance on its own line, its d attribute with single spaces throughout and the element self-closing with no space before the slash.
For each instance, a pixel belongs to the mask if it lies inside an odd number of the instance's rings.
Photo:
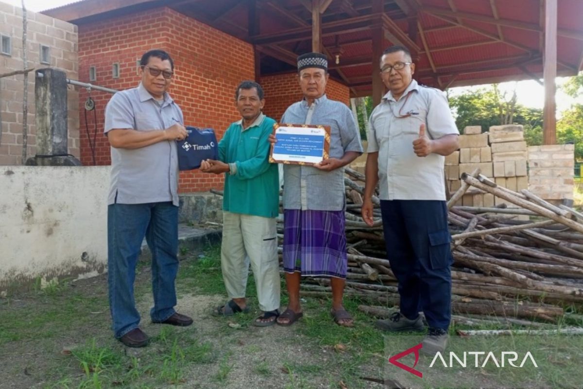
<svg viewBox="0 0 583 389">
<path fill-rule="evenodd" d="M 0 166 L 0 291 L 106 270 L 109 174 L 110 166 Z"/>
</svg>

